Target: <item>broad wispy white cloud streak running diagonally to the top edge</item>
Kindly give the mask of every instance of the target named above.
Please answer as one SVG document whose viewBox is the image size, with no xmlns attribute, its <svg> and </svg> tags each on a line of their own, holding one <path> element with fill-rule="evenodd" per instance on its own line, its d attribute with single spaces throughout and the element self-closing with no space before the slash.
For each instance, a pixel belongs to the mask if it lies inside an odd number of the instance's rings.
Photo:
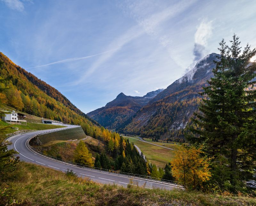
<svg viewBox="0 0 256 206">
<path fill-rule="evenodd" d="M 126 32 L 116 37 L 112 42 L 110 42 L 107 46 L 107 50 L 112 48 L 116 48 L 114 51 L 109 52 L 107 54 L 101 55 L 92 66 L 84 72 L 81 77 L 72 82 L 70 85 L 78 85 L 84 82 L 84 80 L 91 75 L 95 70 L 97 70 L 101 65 L 103 65 L 108 59 L 110 59 L 118 50 L 121 50 L 122 47 L 136 38 L 142 36 L 143 34 L 148 34 L 150 36 L 154 36 L 157 38 L 163 46 L 170 45 L 170 39 L 166 37 L 166 35 L 158 34 L 159 26 L 168 19 L 174 18 L 182 11 L 186 10 L 191 4 L 193 4 L 196 0 L 193 1 L 180 1 L 177 4 L 173 4 L 161 11 L 158 12 L 150 12 L 145 16 L 140 16 L 139 18 L 135 18 L 137 21 L 137 25 L 129 28 Z M 147 1 L 145 1 L 147 2 Z M 129 3 L 130 4 L 130 3 Z M 132 4 L 132 3 L 131 3 Z M 122 5 L 123 6 L 123 5 Z M 125 7 L 125 6 L 124 6 Z M 124 7 L 122 9 L 124 10 Z M 143 4 L 140 4 L 139 8 L 136 8 L 136 11 L 143 10 Z M 153 10 L 154 11 L 154 10 Z M 133 11 L 132 11 L 133 12 Z M 137 14 L 134 14 L 136 17 Z"/>
</svg>

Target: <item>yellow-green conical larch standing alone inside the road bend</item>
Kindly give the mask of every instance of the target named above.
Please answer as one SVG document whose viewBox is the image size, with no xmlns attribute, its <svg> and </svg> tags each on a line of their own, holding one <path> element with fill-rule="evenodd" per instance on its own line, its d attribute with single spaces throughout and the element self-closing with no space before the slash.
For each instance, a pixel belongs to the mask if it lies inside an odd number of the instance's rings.
<svg viewBox="0 0 256 206">
<path fill-rule="evenodd" d="M 85 143 L 80 140 L 74 152 L 74 160 L 78 164 L 93 166 L 92 154 L 88 151 Z"/>
</svg>

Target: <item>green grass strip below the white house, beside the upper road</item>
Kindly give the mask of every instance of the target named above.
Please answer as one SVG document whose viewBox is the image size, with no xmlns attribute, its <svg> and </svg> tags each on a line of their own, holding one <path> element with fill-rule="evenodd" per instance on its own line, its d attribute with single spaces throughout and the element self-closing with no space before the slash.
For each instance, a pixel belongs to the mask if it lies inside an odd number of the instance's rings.
<svg viewBox="0 0 256 206">
<path fill-rule="evenodd" d="M 9 126 L 9 127 L 7 127 Z M 19 130 L 29 131 L 29 130 L 44 130 L 44 129 L 55 129 L 64 126 L 60 125 L 47 125 L 47 124 L 37 124 L 37 123 L 29 123 L 27 122 L 27 126 L 25 125 L 11 125 L 9 123 L 0 120 L 0 128 L 7 127 L 0 132 L 0 141 L 3 141 L 6 137 L 10 136 L 12 133 L 17 132 L 17 130 L 13 130 L 11 127 L 18 127 Z"/>
</svg>

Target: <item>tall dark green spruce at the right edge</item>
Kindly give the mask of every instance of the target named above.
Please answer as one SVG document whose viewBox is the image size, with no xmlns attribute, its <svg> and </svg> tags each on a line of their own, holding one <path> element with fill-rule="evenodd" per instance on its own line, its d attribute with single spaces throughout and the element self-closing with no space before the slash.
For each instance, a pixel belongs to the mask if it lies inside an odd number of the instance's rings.
<svg viewBox="0 0 256 206">
<path fill-rule="evenodd" d="M 244 186 L 243 180 L 253 178 L 256 166 L 256 65 L 250 62 L 256 50 L 247 44 L 242 51 L 236 34 L 230 42 L 230 47 L 224 40 L 220 42 L 213 77 L 203 87 L 203 102 L 192 119 L 195 124 L 190 129 L 197 135 L 188 139 L 205 142 L 212 156 L 228 158 L 229 180 L 235 191 Z"/>
</svg>

